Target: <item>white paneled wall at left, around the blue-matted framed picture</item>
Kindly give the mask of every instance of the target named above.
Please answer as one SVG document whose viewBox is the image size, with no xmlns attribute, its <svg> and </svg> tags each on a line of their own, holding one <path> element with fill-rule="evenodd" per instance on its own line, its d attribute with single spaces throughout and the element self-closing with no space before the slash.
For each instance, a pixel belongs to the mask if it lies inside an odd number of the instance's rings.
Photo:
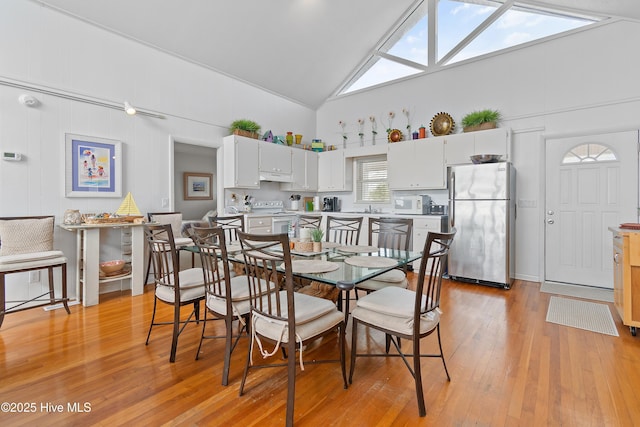
<svg viewBox="0 0 640 427">
<path fill-rule="evenodd" d="M 170 31 L 170 30 L 168 30 Z M 207 41 L 203 41 L 207 43 Z M 230 58 L 230 60 L 233 60 Z M 0 150 L 24 155 L 0 162 L 0 216 L 55 214 L 65 209 L 113 212 L 121 199 L 66 198 L 65 133 L 123 142 L 123 194 L 140 210 L 169 211 L 175 205 L 172 141 L 220 146 L 226 126 L 250 118 L 264 129 L 315 133 L 315 112 L 248 84 L 176 59 L 36 2 L 4 0 L 0 13 L 0 80 L 67 92 L 101 101 L 128 100 L 166 119 L 72 101 L 0 84 Z M 18 97 L 30 93 L 38 108 Z M 161 206 L 169 198 L 168 208 Z M 74 235 L 56 230 L 55 246 L 76 264 Z M 69 269 L 70 284 L 75 280 Z M 28 293 L 11 280 L 10 297 Z M 73 294 L 73 286 L 70 286 Z"/>
</svg>

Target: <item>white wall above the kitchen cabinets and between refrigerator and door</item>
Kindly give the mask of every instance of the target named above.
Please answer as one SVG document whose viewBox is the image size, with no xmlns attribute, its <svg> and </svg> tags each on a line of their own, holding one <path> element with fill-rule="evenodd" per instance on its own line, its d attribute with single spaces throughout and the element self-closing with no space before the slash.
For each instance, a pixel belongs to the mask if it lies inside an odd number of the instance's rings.
<svg viewBox="0 0 640 427">
<path fill-rule="evenodd" d="M 375 115 L 380 143 L 389 111 L 396 114 L 393 126 L 404 129 L 403 108 L 411 111 L 413 128 L 428 127 L 441 111 L 459 123 L 473 110 L 500 110 L 501 126 L 513 130 L 518 199 L 536 202 L 518 210 L 516 277 L 537 281 L 544 259 L 544 138 L 640 127 L 640 55 L 629 49 L 632 40 L 640 40 L 638 23 L 600 25 L 343 96 L 319 109 L 317 135 L 341 147 L 343 120 L 350 124 L 349 141 L 357 143 L 355 124 L 364 118 L 370 139 L 368 117 Z"/>
</svg>

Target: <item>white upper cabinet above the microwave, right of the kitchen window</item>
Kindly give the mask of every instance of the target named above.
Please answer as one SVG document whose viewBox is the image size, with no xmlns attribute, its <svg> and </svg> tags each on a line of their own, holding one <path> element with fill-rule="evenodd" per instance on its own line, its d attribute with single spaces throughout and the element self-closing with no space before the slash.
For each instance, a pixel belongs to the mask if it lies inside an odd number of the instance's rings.
<svg viewBox="0 0 640 427">
<path fill-rule="evenodd" d="M 415 139 L 389 144 L 387 172 L 391 190 L 446 188 L 444 140 Z"/>
</svg>

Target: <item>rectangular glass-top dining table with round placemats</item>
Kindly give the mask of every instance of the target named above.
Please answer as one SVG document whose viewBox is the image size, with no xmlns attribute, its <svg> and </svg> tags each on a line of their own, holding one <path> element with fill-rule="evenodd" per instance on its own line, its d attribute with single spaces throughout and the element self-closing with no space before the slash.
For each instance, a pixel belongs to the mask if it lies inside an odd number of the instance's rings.
<svg viewBox="0 0 640 427">
<path fill-rule="evenodd" d="M 358 283 L 373 279 L 394 268 L 404 267 L 422 257 L 422 252 L 372 246 L 336 244 L 327 244 L 327 246 L 330 247 L 325 247 L 321 252 L 291 250 L 293 276 L 333 285 L 340 289 L 341 293 L 344 292 L 346 294 L 343 310 L 345 321 L 349 313 L 349 293 Z M 183 250 L 198 252 L 196 246 L 183 247 Z M 244 263 L 238 242 L 229 243 L 227 252 L 229 261 Z M 317 265 L 318 268 L 313 268 L 314 265 Z M 342 309 L 342 298 L 338 298 L 338 308 Z"/>
</svg>

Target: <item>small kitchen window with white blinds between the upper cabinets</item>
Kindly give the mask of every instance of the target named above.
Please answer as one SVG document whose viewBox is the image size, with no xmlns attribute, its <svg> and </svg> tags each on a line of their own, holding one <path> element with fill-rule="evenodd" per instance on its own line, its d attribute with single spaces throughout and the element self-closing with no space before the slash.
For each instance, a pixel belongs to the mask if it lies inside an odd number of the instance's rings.
<svg viewBox="0 0 640 427">
<path fill-rule="evenodd" d="M 356 160 L 356 203 L 388 203 L 387 156 Z"/>
</svg>

